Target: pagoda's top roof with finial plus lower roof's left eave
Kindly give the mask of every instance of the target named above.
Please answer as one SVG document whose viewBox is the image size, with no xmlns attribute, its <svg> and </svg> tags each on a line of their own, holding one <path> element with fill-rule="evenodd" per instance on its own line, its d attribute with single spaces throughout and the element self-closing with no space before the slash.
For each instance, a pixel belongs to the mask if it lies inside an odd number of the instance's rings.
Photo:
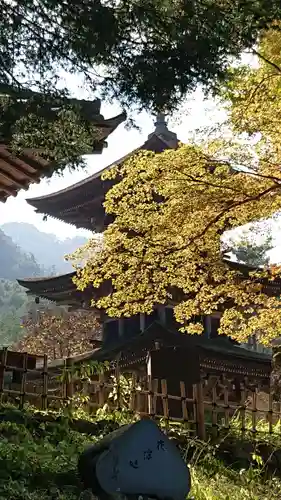
<svg viewBox="0 0 281 500">
<path fill-rule="evenodd" d="M 175 133 L 171 132 L 165 116 L 159 114 L 155 122 L 155 130 L 139 148 L 120 158 L 106 168 L 55 193 L 29 198 L 27 203 L 43 216 L 51 216 L 76 228 L 88 229 L 100 233 L 110 223 L 105 213 L 103 201 L 106 192 L 114 181 L 103 180 L 102 174 L 113 165 L 120 165 L 128 157 L 138 151 L 146 150 L 161 153 L 166 149 L 176 148 L 179 144 Z M 18 283 L 27 289 L 27 293 L 55 302 L 70 308 L 85 308 L 90 305 L 94 290 L 77 290 L 73 283 L 75 272 L 61 276 L 27 278 Z"/>
</svg>

